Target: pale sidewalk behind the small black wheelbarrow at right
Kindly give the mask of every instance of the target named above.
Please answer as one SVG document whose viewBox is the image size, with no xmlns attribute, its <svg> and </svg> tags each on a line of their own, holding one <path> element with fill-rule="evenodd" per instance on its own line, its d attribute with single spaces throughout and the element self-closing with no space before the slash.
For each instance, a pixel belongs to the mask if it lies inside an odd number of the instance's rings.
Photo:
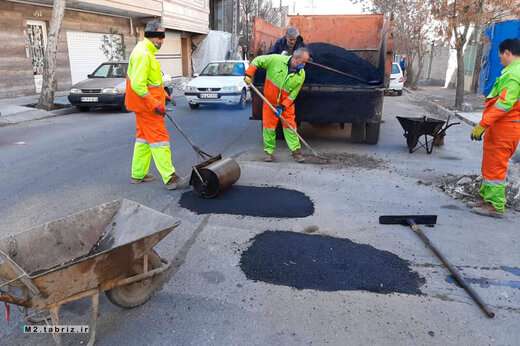
<svg viewBox="0 0 520 346">
<path fill-rule="evenodd" d="M 406 89 L 416 102 L 426 103 L 429 110 L 444 117 L 457 117 L 468 125 L 476 125 L 484 109 L 485 97 L 479 94 L 464 95 L 463 111 L 455 110 L 455 89 L 438 86 L 421 86 L 417 90 Z"/>
</svg>

